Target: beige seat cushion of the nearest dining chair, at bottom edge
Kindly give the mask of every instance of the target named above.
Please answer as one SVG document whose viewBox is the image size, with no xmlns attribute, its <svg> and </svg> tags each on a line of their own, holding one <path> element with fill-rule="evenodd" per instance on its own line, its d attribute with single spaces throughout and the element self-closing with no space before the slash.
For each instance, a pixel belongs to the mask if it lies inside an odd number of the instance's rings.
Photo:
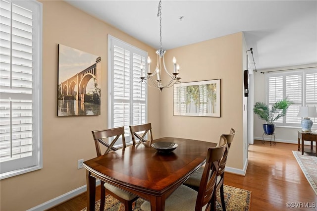
<svg viewBox="0 0 317 211">
<path fill-rule="evenodd" d="M 197 200 L 197 191 L 181 185 L 165 201 L 165 211 L 194 211 Z M 207 206 L 207 205 L 206 205 Z M 206 209 L 206 206 L 203 210 Z M 141 210 L 151 211 L 151 204 L 145 201 Z"/>
</svg>

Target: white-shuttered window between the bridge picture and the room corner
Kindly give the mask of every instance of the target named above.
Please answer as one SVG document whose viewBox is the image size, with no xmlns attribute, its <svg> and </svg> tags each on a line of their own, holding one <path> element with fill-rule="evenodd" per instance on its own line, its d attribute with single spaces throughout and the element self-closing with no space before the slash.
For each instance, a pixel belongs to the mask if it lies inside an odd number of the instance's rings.
<svg viewBox="0 0 317 211">
<path fill-rule="evenodd" d="M 125 126 L 126 141 L 130 142 L 129 125 L 147 122 L 147 87 L 140 83 L 147 53 L 110 35 L 108 43 L 108 125 Z"/>
</svg>

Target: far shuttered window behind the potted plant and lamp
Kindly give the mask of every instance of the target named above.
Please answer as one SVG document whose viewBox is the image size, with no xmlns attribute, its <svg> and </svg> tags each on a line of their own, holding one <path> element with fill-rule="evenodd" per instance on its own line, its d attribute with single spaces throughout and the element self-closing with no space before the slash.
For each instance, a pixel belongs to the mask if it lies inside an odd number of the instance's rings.
<svg viewBox="0 0 317 211">
<path fill-rule="evenodd" d="M 268 105 L 288 97 L 293 105 L 286 116 L 276 121 L 280 126 L 300 126 L 301 117 L 297 117 L 300 106 L 317 106 L 317 69 L 299 71 L 271 72 L 267 74 Z M 317 123 L 317 118 L 311 118 Z M 316 127 L 316 124 L 313 125 Z"/>
</svg>

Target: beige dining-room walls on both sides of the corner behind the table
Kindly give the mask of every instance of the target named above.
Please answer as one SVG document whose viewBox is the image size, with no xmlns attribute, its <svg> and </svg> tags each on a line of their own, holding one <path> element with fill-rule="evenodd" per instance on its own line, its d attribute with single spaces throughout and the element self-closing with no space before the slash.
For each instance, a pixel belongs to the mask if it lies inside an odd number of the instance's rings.
<svg viewBox="0 0 317 211">
<path fill-rule="evenodd" d="M 107 35 L 149 52 L 155 50 L 63 1 L 43 3 L 43 169 L 0 181 L 1 211 L 24 211 L 86 184 L 77 160 L 96 156 L 91 130 L 107 128 Z M 172 114 L 172 89 L 149 89 L 149 122 L 154 138 L 177 136 L 218 142 L 236 129 L 227 165 L 243 168 L 242 33 L 173 49 L 183 82 L 221 79 L 221 117 Z M 99 116 L 56 116 L 57 45 L 102 57 L 102 110 Z"/>
</svg>

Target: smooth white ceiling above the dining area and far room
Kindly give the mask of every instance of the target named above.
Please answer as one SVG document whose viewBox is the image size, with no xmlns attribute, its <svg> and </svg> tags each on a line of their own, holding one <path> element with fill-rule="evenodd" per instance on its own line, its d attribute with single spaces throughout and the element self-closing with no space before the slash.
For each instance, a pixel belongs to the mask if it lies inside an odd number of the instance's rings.
<svg viewBox="0 0 317 211">
<path fill-rule="evenodd" d="M 159 49 L 159 0 L 65 1 Z M 162 0 L 161 14 L 164 50 L 242 31 L 258 70 L 317 63 L 317 0 Z"/>
</svg>

